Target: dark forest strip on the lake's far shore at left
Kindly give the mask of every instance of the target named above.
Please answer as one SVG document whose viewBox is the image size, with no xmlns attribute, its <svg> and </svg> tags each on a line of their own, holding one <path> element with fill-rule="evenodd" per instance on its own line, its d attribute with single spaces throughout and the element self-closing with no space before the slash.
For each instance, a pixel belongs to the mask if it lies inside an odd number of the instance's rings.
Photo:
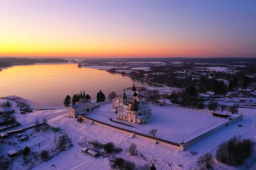
<svg viewBox="0 0 256 170">
<path fill-rule="evenodd" d="M 33 63 L 67 63 L 68 60 L 59 58 L 32 59 L 32 58 L 0 58 L 0 67 L 9 67 L 18 64 Z"/>
</svg>

